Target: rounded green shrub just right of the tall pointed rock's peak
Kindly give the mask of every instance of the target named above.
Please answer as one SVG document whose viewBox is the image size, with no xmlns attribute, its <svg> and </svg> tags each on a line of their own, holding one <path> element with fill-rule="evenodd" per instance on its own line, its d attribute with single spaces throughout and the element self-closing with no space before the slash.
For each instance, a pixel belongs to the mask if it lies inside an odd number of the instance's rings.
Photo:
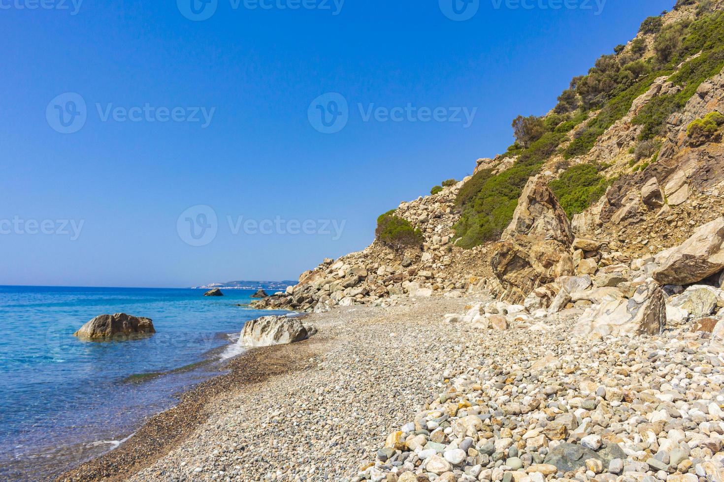
<svg viewBox="0 0 724 482">
<path fill-rule="evenodd" d="M 549 184 L 568 218 L 583 212 L 605 194 L 610 181 L 599 172 L 602 166 L 578 164 Z"/>
</svg>

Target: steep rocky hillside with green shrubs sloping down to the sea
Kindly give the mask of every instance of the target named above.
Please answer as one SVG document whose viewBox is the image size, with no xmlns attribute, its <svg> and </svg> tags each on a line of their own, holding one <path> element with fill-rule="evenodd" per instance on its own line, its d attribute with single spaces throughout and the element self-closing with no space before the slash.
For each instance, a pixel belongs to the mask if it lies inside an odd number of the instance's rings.
<svg viewBox="0 0 724 482">
<path fill-rule="evenodd" d="M 521 302 L 560 275 L 677 246 L 724 212 L 723 102 L 724 1 L 679 0 L 573 79 L 546 116 L 515 119 L 508 152 L 401 203 L 371 246 L 325 259 L 256 306 L 327 311 L 485 289 Z M 570 232 L 514 219 L 547 186 L 551 199 L 538 202 Z"/>
</svg>

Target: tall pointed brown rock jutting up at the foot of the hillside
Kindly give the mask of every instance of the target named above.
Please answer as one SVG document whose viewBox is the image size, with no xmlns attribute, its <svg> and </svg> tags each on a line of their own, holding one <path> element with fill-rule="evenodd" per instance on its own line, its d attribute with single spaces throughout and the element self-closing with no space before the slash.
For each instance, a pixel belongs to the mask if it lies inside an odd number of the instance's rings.
<svg viewBox="0 0 724 482">
<path fill-rule="evenodd" d="M 492 270 L 505 291 L 502 298 L 523 303 L 539 286 L 574 275 L 572 242 L 571 223 L 546 181 L 531 178 L 491 255 Z"/>
</svg>

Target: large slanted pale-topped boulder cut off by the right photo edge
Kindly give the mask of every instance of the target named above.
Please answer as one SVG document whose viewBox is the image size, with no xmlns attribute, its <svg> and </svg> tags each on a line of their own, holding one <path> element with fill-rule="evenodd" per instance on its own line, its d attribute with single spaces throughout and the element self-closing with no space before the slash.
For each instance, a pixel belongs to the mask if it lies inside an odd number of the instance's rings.
<svg viewBox="0 0 724 482">
<path fill-rule="evenodd" d="M 654 280 L 662 285 L 690 285 L 724 269 L 724 216 L 702 225 L 691 238 L 657 254 Z"/>
</svg>

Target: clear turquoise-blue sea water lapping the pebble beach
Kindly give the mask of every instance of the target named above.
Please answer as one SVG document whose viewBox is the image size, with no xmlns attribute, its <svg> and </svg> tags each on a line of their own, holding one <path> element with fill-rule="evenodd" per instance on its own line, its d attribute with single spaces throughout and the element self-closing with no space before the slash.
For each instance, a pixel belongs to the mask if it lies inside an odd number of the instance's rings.
<svg viewBox="0 0 724 482">
<path fill-rule="evenodd" d="M 112 449 L 175 394 L 218 374 L 213 362 L 233 335 L 269 313 L 236 306 L 253 291 L 203 293 L 0 286 L 0 480 L 43 480 Z M 106 313 L 151 318 L 156 335 L 72 336 Z"/>
</svg>

